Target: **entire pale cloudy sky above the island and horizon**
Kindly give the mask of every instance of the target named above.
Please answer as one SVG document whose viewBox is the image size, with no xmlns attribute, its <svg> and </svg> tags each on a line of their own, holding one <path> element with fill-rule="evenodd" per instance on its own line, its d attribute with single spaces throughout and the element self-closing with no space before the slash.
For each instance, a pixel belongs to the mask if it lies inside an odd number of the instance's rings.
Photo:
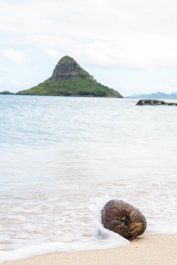
<svg viewBox="0 0 177 265">
<path fill-rule="evenodd" d="M 65 55 L 132 94 L 177 92 L 176 0 L 0 0 L 0 91 L 51 77 Z"/>
</svg>

